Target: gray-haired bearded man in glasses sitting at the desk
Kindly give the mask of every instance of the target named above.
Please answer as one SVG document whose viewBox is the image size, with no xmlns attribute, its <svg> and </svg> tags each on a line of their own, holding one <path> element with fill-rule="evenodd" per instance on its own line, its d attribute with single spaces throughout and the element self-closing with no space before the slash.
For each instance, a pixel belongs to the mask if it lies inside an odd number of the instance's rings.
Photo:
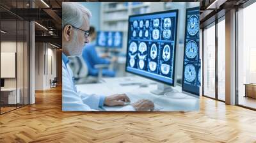
<svg viewBox="0 0 256 143">
<path fill-rule="evenodd" d="M 126 94 L 97 95 L 77 91 L 74 76 L 68 66 L 67 56 L 79 56 L 88 43 L 92 13 L 79 3 L 62 4 L 62 110 L 94 111 L 105 106 L 124 106 L 130 102 Z M 153 110 L 150 100 L 139 100 L 120 110 Z"/>
</svg>

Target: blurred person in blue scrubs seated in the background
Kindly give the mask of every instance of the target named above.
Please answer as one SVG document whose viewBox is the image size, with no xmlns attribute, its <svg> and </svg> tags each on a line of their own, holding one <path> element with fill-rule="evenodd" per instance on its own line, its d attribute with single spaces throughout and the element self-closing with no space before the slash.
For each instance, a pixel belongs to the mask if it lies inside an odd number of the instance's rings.
<svg viewBox="0 0 256 143">
<path fill-rule="evenodd" d="M 96 36 L 97 36 L 97 33 L 95 31 L 95 28 L 93 26 L 90 26 L 90 36 L 89 36 L 90 43 L 84 46 L 84 49 L 82 52 L 82 57 L 88 66 L 88 75 L 92 75 L 94 77 L 97 77 L 99 74 L 99 70 L 94 67 L 96 64 L 111 63 L 111 61 L 109 61 L 108 59 L 98 56 L 97 51 L 95 49 Z M 102 75 L 104 77 L 115 77 L 115 72 L 108 69 L 103 69 Z"/>
</svg>

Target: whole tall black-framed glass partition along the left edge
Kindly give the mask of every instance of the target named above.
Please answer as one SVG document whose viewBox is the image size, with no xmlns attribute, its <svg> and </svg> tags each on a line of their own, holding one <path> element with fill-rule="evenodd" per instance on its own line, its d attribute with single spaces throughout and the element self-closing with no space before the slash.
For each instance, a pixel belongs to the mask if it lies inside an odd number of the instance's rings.
<svg viewBox="0 0 256 143">
<path fill-rule="evenodd" d="M 29 103 L 29 22 L 14 13 L 29 1 L 0 1 L 0 114 Z"/>
</svg>

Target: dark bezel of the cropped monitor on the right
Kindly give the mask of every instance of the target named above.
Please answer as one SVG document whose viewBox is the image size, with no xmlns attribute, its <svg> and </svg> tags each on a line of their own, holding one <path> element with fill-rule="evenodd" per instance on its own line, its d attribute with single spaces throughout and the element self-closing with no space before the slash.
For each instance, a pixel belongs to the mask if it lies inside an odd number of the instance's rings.
<svg viewBox="0 0 256 143">
<path fill-rule="evenodd" d="M 185 35 L 184 35 L 184 58 L 185 58 L 185 52 L 186 52 L 186 50 L 185 50 L 185 45 L 186 45 L 186 35 L 187 35 L 187 32 L 188 32 L 188 30 L 187 30 L 187 26 L 188 26 L 188 22 L 187 22 L 187 17 L 188 17 L 188 11 L 189 10 L 200 10 L 200 7 L 199 6 L 196 6 L 196 7 L 193 7 L 193 8 L 186 8 L 186 27 L 185 27 Z M 198 33 L 200 33 L 200 30 L 198 31 Z M 200 36 L 199 36 L 199 38 L 200 38 Z M 200 45 L 199 45 L 200 46 Z M 200 54 L 200 51 L 198 51 L 198 53 Z M 196 96 L 200 96 L 200 89 L 199 89 L 199 94 L 198 93 L 195 93 L 195 92 L 192 92 L 192 91 L 188 91 L 188 90 L 186 90 L 186 89 L 184 89 L 184 63 L 185 63 L 185 60 L 184 60 L 184 58 L 183 58 L 183 65 L 182 65 L 182 68 L 183 68 L 183 70 L 182 70 L 182 91 L 184 91 L 184 92 L 186 92 L 186 93 L 190 93 L 190 94 L 195 94 Z M 200 87 L 199 87 L 200 88 Z"/>
</svg>

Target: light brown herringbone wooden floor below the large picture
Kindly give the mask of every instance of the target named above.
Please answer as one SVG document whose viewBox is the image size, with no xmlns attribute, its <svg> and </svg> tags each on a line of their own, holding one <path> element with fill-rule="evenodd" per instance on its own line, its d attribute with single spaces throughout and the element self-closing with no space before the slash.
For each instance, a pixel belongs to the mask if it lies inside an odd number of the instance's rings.
<svg viewBox="0 0 256 143">
<path fill-rule="evenodd" d="M 199 112 L 62 112 L 59 87 L 1 115 L 0 142 L 256 142 L 256 112 L 205 97 Z"/>
</svg>

